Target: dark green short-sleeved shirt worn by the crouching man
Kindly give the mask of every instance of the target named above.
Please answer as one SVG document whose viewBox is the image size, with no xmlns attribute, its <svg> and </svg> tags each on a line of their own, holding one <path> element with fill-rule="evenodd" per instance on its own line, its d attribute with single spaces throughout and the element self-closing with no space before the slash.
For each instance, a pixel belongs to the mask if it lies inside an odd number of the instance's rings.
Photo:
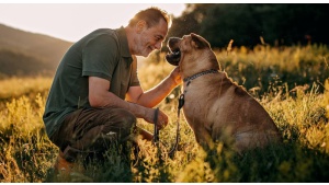
<svg viewBox="0 0 329 185">
<path fill-rule="evenodd" d="M 50 137 L 69 113 L 91 107 L 88 77 L 111 82 L 110 92 L 121 99 L 139 85 L 136 57 L 128 49 L 124 27 L 100 28 L 73 44 L 63 57 L 46 102 L 43 119 Z"/>
</svg>

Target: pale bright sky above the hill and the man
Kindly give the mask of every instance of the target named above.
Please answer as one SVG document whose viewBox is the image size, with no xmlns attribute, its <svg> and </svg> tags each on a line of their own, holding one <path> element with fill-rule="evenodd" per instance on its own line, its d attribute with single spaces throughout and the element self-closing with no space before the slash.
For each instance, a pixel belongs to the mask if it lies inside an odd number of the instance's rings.
<svg viewBox="0 0 329 185">
<path fill-rule="evenodd" d="M 105 3 L 97 0 L 94 2 L 79 1 L 79 3 L 71 1 L 18 3 L 14 0 L 3 3 L 0 1 L 0 24 L 68 42 L 77 42 L 97 28 L 125 26 L 135 13 L 149 7 L 159 7 L 174 16 L 180 16 L 185 9 L 184 3 L 127 3 L 129 1 L 122 1 L 124 3 Z"/>
</svg>

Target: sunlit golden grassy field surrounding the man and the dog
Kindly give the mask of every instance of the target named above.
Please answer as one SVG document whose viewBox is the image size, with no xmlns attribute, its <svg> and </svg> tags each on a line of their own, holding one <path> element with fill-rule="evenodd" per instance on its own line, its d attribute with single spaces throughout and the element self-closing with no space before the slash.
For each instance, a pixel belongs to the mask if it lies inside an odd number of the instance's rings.
<svg viewBox="0 0 329 185">
<path fill-rule="evenodd" d="M 163 55 L 154 54 L 141 65 L 144 90 L 172 70 Z M 259 46 L 216 50 L 216 55 L 222 70 L 270 113 L 283 144 L 238 155 L 218 143 L 205 152 L 181 118 L 178 151 L 169 158 L 167 151 L 175 139 L 178 88 L 159 105 L 170 122 L 160 131 L 159 149 L 145 141 L 137 154 L 109 149 L 105 163 L 90 162 L 84 171 L 56 176 L 52 166 L 58 149 L 42 122 L 52 79 L 11 78 L 0 81 L 0 182 L 329 182 L 329 49 Z M 144 120 L 138 125 L 152 131 Z"/>
</svg>

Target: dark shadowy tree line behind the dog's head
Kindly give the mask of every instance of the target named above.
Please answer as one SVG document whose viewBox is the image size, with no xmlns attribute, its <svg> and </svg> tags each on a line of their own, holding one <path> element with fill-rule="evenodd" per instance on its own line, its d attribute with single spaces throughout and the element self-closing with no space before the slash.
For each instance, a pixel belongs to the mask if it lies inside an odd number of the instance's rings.
<svg viewBox="0 0 329 185">
<path fill-rule="evenodd" d="M 173 18 L 170 36 L 196 33 L 212 47 L 329 44 L 329 4 L 196 3 Z"/>
</svg>

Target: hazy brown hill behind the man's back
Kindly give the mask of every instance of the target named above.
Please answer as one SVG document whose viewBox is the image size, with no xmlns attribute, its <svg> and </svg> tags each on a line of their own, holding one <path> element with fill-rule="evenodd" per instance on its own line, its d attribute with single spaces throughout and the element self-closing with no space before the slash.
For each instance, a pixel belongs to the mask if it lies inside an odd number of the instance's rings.
<svg viewBox="0 0 329 185">
<path fill-rule="evenodd" d="M 0 78 L 54 74 L 70 42 L 0 24 Z"/>
</svg>

